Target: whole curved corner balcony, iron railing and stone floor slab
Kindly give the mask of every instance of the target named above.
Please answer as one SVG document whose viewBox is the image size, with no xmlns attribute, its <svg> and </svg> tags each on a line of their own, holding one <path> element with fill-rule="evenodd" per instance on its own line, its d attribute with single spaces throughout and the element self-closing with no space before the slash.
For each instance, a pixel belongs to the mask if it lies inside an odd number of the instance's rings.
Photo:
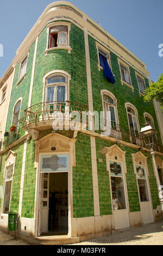
<svg viewBox="0 0 163 256">
<path fill-rule="evenodd" d="M 43 131 L 53 129 L 54 120 L 64 120 L 65 125 L 65 120 L 72 120 L 72 112 L 80 114 L 79 123 L 82 123 L 83 111 L 88 111 L 87 106 L 78 102 L 42 102 L 25 109 L 23 117 L 18 122 L 24 131 L 30 129 Z"/>
</svg>

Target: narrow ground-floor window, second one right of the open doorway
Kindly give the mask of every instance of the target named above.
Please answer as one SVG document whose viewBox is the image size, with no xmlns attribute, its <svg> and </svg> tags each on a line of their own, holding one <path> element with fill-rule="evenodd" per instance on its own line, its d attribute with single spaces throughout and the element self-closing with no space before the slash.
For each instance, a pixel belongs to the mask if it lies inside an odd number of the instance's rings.
<svg viewBox="0 0 163 256">
<path fill-rule="evenodd" d="M 137 184 L 139 187 L 140 202 L 148 202 L 148 190 L 146 181 L 145 167 L 136 166 Z"/>
</svg>

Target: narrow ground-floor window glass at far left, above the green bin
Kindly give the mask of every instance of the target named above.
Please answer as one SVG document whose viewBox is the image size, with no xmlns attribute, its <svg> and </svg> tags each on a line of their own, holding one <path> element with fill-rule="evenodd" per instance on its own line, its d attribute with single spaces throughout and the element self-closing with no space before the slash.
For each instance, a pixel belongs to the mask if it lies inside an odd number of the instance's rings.
<svg viewBox="0 0 163 256">
<path fill-rule="evenodd" d="M 4 188 L 4 196 L 3 196 L 3 209 L 2 209 L 3 214 L 8 214 L 10 210 L 13 168 L 14 168 L 13 164 L 6 168 L 5 188 Z"/>
</svg>

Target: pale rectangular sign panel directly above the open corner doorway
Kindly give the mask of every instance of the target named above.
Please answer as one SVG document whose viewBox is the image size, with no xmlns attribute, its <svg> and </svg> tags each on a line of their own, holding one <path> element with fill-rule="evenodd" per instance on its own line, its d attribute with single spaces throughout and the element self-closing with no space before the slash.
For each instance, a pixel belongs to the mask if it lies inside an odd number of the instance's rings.
<svg viewBox="0 0 163 256">
<path fill-rule="evenodd" d="M 41 173 L 67 172 L 68 170 L 68 154 L 41 155 Z"/>
</svg>

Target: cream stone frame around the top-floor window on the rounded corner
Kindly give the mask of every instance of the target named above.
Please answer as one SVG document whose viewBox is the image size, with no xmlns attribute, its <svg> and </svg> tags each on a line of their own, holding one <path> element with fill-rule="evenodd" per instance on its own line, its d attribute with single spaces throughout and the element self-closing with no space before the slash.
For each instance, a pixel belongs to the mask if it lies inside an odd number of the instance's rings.
<svg viewBox="0 0 163 256">
<path fill-rule="evenodd" d="M 58 46 L 58 47 L 52 47 L 52 48 L 48 48 L 49 45 L 49 32 L 50 29 L 52 27 L 55 26 L 66 26 L 67 27 L 67 46 Z M 47 53 L 49 51 L 54 51 L 54 50 L 59 50 L 59 49 L 64 49 L 67 50 L 68 53 L 71 53 L 72 48 L 70 47 L 70 31 L 71 31 L 71 23 L 69 22 L 63 22 L 63 21 L 59 21 L 59 22 L 53 22 L 53 23 L 49 23 L 47 25 L 47 45 L 46 45 L 46 49 L 45 49 L 45 56 L 47 56 Z"/>
</svg>

